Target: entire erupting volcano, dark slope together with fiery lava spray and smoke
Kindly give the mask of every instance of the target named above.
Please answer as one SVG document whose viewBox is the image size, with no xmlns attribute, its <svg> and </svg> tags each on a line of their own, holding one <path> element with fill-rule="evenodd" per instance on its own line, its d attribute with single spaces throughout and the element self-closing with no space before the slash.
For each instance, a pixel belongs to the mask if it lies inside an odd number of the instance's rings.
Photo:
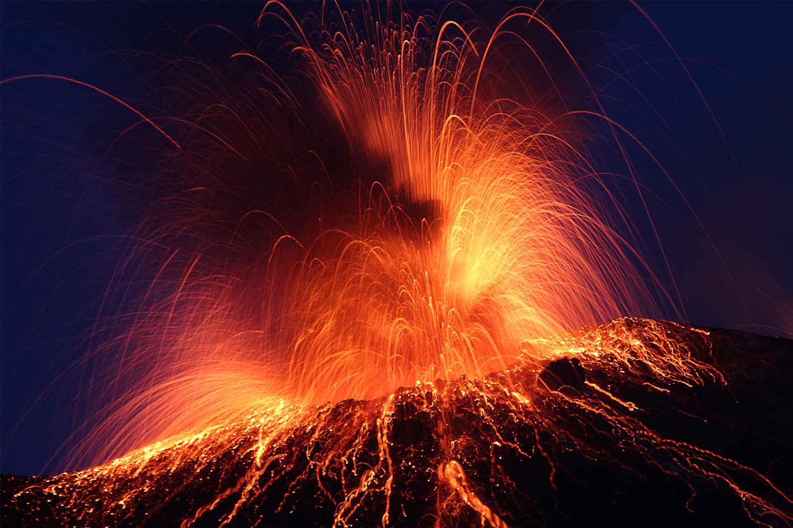
<svg viewBox="0 0 793 528">
<path fill-rule="evenodd" d="M 554 9 L 315 7 L 3 78 L 101 98 L 131 226 L 4 525 L 791 526 L 791 341 L 660 320 L 665 169 Z"/>
</svg>

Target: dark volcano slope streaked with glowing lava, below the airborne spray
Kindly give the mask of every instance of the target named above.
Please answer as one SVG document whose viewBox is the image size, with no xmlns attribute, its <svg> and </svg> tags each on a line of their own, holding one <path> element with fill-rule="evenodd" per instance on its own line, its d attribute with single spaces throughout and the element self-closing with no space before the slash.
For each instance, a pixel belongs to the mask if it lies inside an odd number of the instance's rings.
<svg viewBox="0 0 793 528">
<path fill-rule="evenodd" d="M 92 469 L 2 476 L 3 526 L 791 526 L 793 341 L 615 319 L 481 379 L 274 401 Z"/>
</svg>

